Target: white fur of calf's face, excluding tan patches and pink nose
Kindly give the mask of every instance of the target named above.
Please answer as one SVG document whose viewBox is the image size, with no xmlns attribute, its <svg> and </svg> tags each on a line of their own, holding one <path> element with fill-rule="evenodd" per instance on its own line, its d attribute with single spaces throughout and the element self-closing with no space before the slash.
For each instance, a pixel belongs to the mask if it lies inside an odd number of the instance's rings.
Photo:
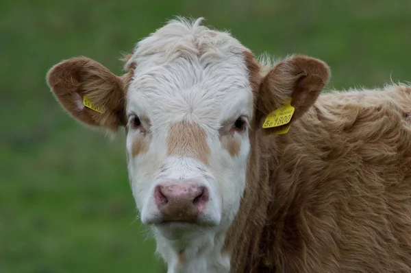
<svg viewBox="0 0 411 273">
<path fill-rule="evenodd" d="M 250 150 L 248 128 L 232 129 L 238 117 L 251 119 L 253 115 L 246 48 L 228 34 L 198 24 L 169 23 L 138 43 L 128 62 L 134 62 L 136 69 L 127 91 L 127 113 L 141 121 L 138 128 L 129 123 L 129 177 L 141 220 L 153 224 L 158 252 L 169 263 L 169 272 L 183 266 L 177 258 L 180 250 L 190 257 L 187 263 L 197 263 L 197 272 L 229 267 L 227 257 L 221 257 L 221 247 L 245 189 Z M 210 148 L 206 162 L 167 154 L 171 124 L 181 122 L 194 123 L 206 134 Z M 221 134 L 239 143 L 237 154 L 223 149 Z M 150 141 L 145 142 L 145 152 L 132 156 L 133 143 L 146 138 Z M 208 202 L 199 215 L 199 221 L 208 226 L 159 224 L 162 215 L 154 191 L 169 181 L 195 182 L 208 189 Z M 201 248 L 207 259 L 195 254 Z"/>
</svg>

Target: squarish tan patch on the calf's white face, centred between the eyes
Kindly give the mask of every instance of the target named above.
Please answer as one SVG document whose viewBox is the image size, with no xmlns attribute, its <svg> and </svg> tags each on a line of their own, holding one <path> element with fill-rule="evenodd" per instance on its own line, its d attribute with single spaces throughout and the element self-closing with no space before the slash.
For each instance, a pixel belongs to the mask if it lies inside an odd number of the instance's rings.
<svg viewBox="0 0 411 273">
<path fill-rule="evenodd" d="M 197 123 L 175 123 L 170 127 L 167 141 L 170 155 L 191 156 L 208 163 L 210 147 L 207 145 L 206 132 Z"/>
</svg>

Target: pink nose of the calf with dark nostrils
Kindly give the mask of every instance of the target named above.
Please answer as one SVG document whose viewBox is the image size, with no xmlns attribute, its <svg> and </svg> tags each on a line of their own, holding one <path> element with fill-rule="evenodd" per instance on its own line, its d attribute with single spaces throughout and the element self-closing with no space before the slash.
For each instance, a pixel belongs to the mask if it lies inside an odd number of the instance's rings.
<svg viewBox="0 0 411 273">
<path fill-rule="evenodd" d="M 209 199 L 208 189 L 194 182 L 169 182 L 154 191 L 155 204 L 166 222 L 195 222 Z"/>
</svg>

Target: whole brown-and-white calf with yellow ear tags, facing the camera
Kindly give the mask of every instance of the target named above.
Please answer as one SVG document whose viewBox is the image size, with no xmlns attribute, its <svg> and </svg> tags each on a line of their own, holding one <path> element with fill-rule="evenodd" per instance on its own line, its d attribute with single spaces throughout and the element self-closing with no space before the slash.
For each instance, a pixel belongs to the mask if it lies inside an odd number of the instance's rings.
<svg viewBox="0 0 411 273">
<path fill-rule="evenodd" d="M 89 58 L 47 74 L 72 117 L 125 128 L 169 272 L 411 272 L 411 88 L 319 96 L 328 80 L 201 19 L 141 40 L 122 76 Z"/>
</svg>

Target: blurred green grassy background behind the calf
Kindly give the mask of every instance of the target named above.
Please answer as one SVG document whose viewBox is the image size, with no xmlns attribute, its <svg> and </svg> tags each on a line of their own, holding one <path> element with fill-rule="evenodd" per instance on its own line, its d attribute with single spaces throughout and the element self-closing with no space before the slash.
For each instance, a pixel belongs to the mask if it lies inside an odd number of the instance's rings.
<svg viewBox="0 0 411 273">
<path fill-rule="evenodd" d="M 164 272 L 136 218 L 123 133 L 79 126 L 45 75 L 80 55 L 120 74 L 121 53 L 177 14 L 256 54 L 321 58 L 327 88 L 411 80 L 410 0 L 2 0 L 0 272 Z"/>
</svg>

